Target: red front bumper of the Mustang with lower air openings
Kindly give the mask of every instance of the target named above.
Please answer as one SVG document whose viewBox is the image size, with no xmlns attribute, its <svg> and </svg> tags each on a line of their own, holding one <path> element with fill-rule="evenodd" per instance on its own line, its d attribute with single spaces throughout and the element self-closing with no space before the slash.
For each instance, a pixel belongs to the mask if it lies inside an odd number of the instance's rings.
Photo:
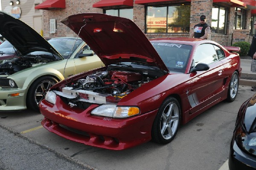
<svg viewBox="0 0 256 170">
<path fill-rule="evenodd" d="M 41 124 L 69 140 L 111 150 L 124 150 L 151 140 L 157 110 L 121 119 L 90 115 L 95 107 L 70 108 L 58 96 L 54 106 L 43 100 L 39 108 L 45 118 Z"/>
</svg>

